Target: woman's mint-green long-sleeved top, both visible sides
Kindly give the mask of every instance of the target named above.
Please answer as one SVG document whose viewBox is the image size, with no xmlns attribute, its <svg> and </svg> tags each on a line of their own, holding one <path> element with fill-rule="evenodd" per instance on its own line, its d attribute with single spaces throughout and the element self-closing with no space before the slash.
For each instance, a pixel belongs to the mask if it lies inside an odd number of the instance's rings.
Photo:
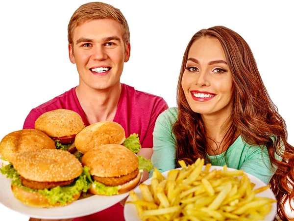
<svg viewBox="0 0 294 221">
<path fill-rule="evenodd" d="M 172 124 L 177 119 L 177 108 L 170 108 L 162 112 L 155 123 L 153 132 L 153 155 L 151 162 L 160 172 L 175 168 L 175 137 L 172 133 Z M 226 155 L 225 162 L 224 156 Z M 213 166 L 231 167 L 243 169 L 245 172 L 259 178 L 266 184 L 275 169 L 270 165 L 267 149 L 260 146 L 251 146 L 245 143 L 239 136 L 234 143 L 223 153 L 216 156 L 207 155 Z M 150 171 L 149 177 L 152 176 Z"/>
</svg>

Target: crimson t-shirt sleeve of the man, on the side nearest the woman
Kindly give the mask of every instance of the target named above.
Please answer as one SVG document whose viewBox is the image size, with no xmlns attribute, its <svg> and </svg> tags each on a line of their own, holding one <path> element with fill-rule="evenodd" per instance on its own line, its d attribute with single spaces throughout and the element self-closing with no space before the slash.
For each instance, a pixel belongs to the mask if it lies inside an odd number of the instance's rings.
<svg viewBox="0 0 294 221">
<path fill-rule="evenodd" d="M 153 110 L 152 110 L 152 113 L 151 113 L 151 116 L 150 116 L 150 122 L 148 125 L 146 136 L 145 136 L 144 140 L 141 142 L 142 148 L 152 148 L 153 147 L 152 133 L 154 130 L 156 119 L 160 113 L 167 110 L 168 108 L 169 108 L 168 104 L 166 103 L 166 101 L 163 98 L 156 100 L 154 107 L 153 107 Z"/>
</svg>

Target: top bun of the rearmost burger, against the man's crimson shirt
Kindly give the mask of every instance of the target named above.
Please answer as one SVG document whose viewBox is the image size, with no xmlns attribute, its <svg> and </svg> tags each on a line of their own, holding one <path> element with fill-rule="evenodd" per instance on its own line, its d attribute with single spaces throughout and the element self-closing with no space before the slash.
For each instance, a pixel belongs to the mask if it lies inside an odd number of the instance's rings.
<svg viewBox="0 0 294 221">
<path fill-rule="evenodd" d="M 80 115 L 74 111 L 57 109 L 43 113 L 35 122 L 35 129 L 49 137 L 76 135 L 84 127 Z"/>
</svg>

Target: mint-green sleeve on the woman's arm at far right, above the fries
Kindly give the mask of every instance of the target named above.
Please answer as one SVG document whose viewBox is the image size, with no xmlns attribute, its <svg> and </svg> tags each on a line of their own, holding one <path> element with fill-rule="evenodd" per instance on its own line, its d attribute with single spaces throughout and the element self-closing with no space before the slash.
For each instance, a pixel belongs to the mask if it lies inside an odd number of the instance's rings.
<svg viewBox="0 0 294 221">
<path fill-rule="evenodd" d="M 269 184 L 271 177 L 276 171 L 276 168 L 272 168 L 270 165 L 270 157 L 267 148 L 262 149 L 259 146 L 249 147 L 246 160 L 240 169 L 257 177 L 265 184 Z"/>
</svg>

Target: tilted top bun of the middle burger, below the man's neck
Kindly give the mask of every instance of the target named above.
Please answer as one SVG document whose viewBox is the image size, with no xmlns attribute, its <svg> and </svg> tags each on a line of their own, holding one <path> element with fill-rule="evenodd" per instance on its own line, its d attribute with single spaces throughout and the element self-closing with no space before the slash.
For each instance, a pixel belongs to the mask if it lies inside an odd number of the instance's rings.
<svg viewBox="0 0 294 221">
<path fill-rule="evenodd" d="M 123 127 L 113 121 L 102 121 L 85 127 L 75 137 L 75 147 L 81 153 L 103 144 L 122 144 Z"/>
</svg>

